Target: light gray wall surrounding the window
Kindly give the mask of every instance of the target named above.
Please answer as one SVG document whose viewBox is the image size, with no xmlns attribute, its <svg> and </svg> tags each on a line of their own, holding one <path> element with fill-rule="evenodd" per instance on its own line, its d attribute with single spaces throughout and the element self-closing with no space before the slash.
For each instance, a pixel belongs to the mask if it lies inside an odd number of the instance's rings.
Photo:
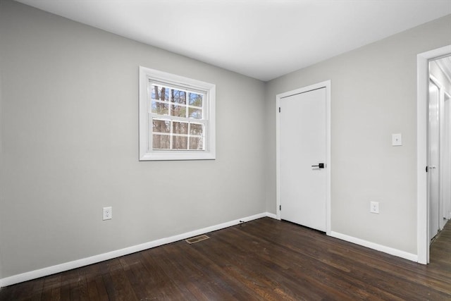
<svg viewBox="0 0 451 301">
<path fill-rule="evenodd" d="M 266 210 L 264 82 L 12 1 L 0 30 L 3 277 Z M 216 84 L 216 160 L 138 161 L 140 65 Z"/>
</svg>

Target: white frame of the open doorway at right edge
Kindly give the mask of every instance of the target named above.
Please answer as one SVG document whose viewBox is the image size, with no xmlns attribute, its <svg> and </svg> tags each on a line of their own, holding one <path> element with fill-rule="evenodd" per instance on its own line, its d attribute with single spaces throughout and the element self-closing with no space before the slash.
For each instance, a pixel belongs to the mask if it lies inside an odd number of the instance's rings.
<svg viewBox="0 0 451 301">
<path fill-rule="evenodd" d="M 427 188 L 427 106 L 430 59 L 451 54 L 451 45 L 426 51 L 416 56 L 416 246 L 418 262 L 429 262 L 429 204 Z"/>
</svg>

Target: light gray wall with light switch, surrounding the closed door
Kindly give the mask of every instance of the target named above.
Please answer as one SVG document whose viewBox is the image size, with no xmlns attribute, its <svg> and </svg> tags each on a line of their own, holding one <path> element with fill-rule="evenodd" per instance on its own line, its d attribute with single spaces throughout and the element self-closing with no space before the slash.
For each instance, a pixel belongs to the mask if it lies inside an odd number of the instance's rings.
<svg viewBox="0 0 451 301">
<path fill-rule="evenodd" d="M 276 94 L 331 80 L 331 230 L 416 254 L 416 55 L 446 44 L 451 16 L 268 82 L 266 210 L 276 212 Z"/>
</svg>

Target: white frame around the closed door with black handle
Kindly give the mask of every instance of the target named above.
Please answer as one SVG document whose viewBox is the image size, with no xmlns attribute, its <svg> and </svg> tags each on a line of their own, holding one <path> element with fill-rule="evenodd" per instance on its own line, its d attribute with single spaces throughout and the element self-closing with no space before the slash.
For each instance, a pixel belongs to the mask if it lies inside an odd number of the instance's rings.
<svg viewBox="0 0 451 301">
<path fill-rule="evenodd" d="M 311 90 L 326 88 L 326 234 L 330 235 L 330 80 L 276 95 L 276 216 L 280 220 L 280 99 Z"/>
</svg>

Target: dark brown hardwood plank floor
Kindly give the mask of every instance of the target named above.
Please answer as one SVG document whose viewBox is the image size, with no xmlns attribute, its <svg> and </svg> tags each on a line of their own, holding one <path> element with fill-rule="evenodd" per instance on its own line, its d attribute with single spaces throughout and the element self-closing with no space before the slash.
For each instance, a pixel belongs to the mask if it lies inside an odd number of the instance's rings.
<svg viewBox="0 0 451 301">
<path fill-rule="evenodd" d="M 0 300 L 451 300 L 451 223 L 422 265 L 264 218 L 11 285 Z"/>
</svg>

